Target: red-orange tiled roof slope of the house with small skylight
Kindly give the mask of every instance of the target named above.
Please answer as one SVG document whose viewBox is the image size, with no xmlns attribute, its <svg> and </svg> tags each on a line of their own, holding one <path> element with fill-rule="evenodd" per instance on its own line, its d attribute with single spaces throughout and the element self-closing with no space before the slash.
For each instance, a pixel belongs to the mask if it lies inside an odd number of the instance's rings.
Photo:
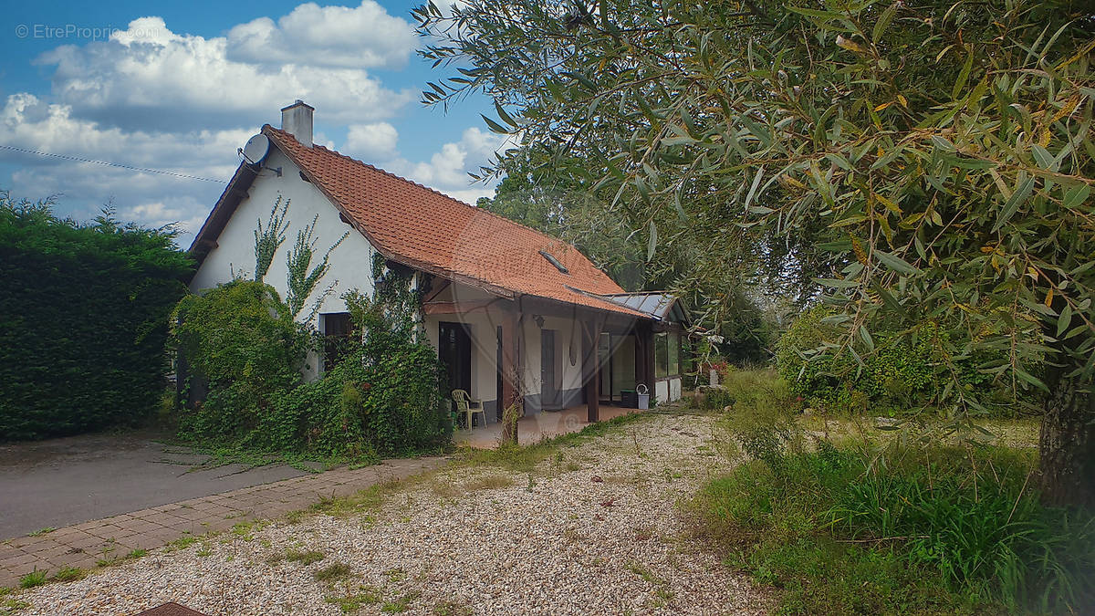
<svg viewBox="0 0 1095 616">
<path fill-rule="evenodd" d="M 505 295 L 646 317 L 591 297 L 624 293 L 573 246 L 437 191 L 345 157 L 304 147 L 292 135 L 263 126 L 277 145 L 385 256 L 426 272 L 470 280 Z M 553 255 L 568 273 L 550 263 Z"/>
</svg>

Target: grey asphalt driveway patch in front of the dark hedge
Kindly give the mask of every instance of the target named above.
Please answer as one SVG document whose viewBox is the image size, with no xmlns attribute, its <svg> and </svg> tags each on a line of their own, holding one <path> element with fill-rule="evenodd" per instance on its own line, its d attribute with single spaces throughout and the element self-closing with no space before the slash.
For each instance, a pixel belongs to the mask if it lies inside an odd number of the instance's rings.
<svg viewBox="0 0 1095 616">
<path fill-rule="evenodd" d="M 147 433 L 0 444 L 0 540 L 307 475 L 208 459 Z"/>
</svg>

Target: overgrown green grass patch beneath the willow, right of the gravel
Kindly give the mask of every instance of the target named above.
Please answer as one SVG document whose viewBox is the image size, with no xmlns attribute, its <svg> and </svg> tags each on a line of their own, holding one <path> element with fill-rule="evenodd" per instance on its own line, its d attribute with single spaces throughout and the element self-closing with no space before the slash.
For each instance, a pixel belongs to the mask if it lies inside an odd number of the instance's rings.
<svg viewBox="0 0 1095 616">
<path fill-rule="evenodd" d="M 1041 503 L 1033 448 L 830 442 L 756 395 L 764 379 L 728 385 L 724 425 L 746 461 L 690 512 L 730 566 L 777 590 L 779 613 L 1095 611 L 1095 512 Z"/>
</svg>

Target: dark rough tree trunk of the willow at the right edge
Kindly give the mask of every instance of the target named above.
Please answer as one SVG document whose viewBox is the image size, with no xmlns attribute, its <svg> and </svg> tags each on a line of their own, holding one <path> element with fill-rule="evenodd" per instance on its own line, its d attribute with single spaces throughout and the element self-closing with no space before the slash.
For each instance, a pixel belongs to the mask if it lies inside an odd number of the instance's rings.
<svg viewBox="0 0 1095 616">
<path fill-rule="evenodd" d="M 1047 379 L 1038 440 L 1042 500 L 1053 505 L 1095 506 L 1095 396 L 1090 379 Z"/>
</svg>

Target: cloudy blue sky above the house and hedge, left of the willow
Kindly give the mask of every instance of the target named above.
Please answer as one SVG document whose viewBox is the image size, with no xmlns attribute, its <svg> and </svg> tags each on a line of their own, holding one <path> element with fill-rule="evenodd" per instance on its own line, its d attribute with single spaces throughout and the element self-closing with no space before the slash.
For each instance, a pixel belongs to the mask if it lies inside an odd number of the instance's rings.
<svg viewBox="0 0 1095 616">
<path fill-rule="evenodd" d="M 425 107 L 417 2 L 22 2 L 0 35 L 0 146 L 227 181 L 237 148 L 280 107 L 315 107 L 316 142 L 469 203 L 466 171 L 502 141 L 485 98 Z M 58 195 L 77 219 L 178 221 L 189 246 L 223 184 L 0 148 L 0 189 Z"/>
</svg>

